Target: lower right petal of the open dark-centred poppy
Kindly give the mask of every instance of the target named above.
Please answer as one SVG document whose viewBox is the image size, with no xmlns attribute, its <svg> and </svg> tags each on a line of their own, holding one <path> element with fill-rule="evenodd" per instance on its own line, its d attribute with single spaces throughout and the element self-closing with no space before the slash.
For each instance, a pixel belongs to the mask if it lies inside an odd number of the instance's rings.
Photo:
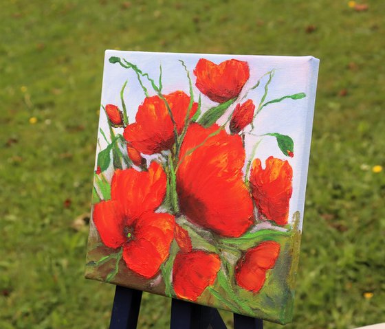
<svg viewBox="0 0 385 329">
<path fill-rule="evenodd" d="M 153 277 L 168 258 L 175 218 L 170 214 L 146 212 L 133 225 L 133 240 L 123 248 L 124 262 L 131 271 Z"/>
</svg>

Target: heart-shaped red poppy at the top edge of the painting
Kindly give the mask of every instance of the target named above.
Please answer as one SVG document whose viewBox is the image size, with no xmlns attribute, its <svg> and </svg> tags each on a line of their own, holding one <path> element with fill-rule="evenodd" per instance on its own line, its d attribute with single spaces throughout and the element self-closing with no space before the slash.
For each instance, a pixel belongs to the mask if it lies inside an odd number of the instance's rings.
<svg viewBox="0 0 385 329">
<path fill-rule="evenodd" d="M 231 59 L 217 65 L 201 58 L 195 67 L 195 85 L 214 102 L 223 103 L 238 97 L 250 77 L 247 62 Z"/>
</svg>

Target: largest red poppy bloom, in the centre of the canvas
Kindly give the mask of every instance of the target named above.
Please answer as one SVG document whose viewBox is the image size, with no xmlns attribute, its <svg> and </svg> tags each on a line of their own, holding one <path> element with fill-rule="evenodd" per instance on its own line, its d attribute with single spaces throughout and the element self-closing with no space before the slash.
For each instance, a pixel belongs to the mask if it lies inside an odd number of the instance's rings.
<svg viewBox="0 0 385 329">
<path fill-rule="evenodd" d="M 217 124 L 191 124 L 179 154 L 177 193 L 191 223 L 237 237 L 253 222 L 253 204 L 243 181 L 245 150 L 239 135 Z"/>
</svg>

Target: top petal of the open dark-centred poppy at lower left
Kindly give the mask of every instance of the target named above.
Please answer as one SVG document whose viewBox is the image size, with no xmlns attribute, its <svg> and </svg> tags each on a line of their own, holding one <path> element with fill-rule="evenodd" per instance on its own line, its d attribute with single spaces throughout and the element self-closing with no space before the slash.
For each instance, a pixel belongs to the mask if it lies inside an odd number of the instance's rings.
<svg viewBox="0 0 385 329">
<path fill-rule="evenodd" d="M 148 210 L 155 210 L 166 194 L 166 174 L 153 161 L 148 171 L 133 168 L 116 170 L 111 182 L 111 199 L 118 201 L 131 220 Z M 129 225 L 130 223 L 127 223 Z"/>
</svg>

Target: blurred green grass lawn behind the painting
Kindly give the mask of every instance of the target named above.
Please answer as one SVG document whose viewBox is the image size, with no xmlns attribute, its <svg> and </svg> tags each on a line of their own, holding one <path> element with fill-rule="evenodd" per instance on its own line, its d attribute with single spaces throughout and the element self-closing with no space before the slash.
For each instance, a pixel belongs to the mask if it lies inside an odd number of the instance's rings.
<svg viewBox="0 0 385 329">
<path fill-rule="evenodd" d="M 3 1 L 0 328 L 108 326 L 113 286 L 83 279 L 87 226 L 72 224 L 90 209 L 102 60 L 118 48 L 321 59 L 287 328 L 384 321 L 385 2 L 367 3 Z M 169 307 L 144 294 L 139 328 L 167 328 Z"/>
</svg>

